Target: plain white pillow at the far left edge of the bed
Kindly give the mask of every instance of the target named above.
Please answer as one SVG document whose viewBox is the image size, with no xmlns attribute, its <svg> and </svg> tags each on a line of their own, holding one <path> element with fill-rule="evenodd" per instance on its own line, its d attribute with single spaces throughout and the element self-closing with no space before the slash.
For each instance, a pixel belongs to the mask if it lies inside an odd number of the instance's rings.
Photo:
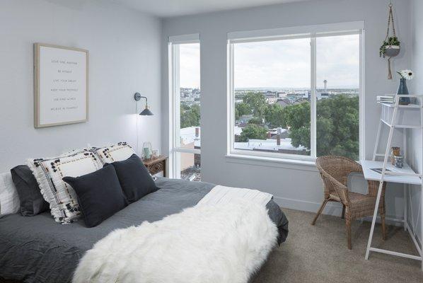
<svg viewBox="0 0 423 283">
<path fill-rule="evenodd" d="M 0 174 L 0 215 L 19 211 L 21 202 L 10 172 Z"/>
</svg>

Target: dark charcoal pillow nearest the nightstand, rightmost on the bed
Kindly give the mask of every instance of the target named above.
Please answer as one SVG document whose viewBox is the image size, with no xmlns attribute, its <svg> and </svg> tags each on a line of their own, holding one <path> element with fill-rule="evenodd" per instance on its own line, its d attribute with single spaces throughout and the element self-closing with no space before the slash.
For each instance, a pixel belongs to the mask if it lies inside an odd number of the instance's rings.
<svg viewBox="0 0 423 283">
<path fill-rule="evenodd" d="M 129 203 L 137 202 L 141 197 L 158 190 L 149 170 L 137 154 L 132 154 L 124 161 L 105 163 L 104 166 L 115 167 L 117 178 Z"/>
</svg>

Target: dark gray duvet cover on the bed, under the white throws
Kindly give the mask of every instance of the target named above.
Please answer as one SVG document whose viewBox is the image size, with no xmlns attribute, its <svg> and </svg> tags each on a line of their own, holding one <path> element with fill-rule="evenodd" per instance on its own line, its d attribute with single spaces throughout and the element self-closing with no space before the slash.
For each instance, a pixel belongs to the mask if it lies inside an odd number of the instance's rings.
<svg viewBox="0 0 423 283">
<path fill-rule="evenodd" d="M 86 228 L 82 220 L 60 225 L 48 212 L 30 217 L 21 214 L 1 217 L 0 278 L 22 282 L 70 282 L 86 250 L 110 231 L 178 213 L 197 204 L 214 187 L 210 183 L 168 178 L 158 178 L 156 185 L 161 189 L 93 228 Z M 267 209 L 279 228 L 279 243 L 282 243 L 288 234 L 288 221 L 272 200 Z"/>
</svg>

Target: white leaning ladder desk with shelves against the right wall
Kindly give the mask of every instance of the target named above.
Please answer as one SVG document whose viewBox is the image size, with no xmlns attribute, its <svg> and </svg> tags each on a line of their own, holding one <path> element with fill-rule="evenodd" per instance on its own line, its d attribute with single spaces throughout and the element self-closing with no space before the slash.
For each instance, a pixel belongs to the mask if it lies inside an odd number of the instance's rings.
<svg viewBox="0 0 423 283">
<path fill-rule="evenodd" d="M 418 98 L 418 104 L 409 104 L 409 105 L 400 105 L 399 100 L 400 98 Z M 404 162 L 404 168 L 395 168 L 392 164 L 388 163 L 388 156 L 390 154 L 390 147 L 392 143 L 394 129 L 402 129 L 402 136 L 403 136 L 403 151 L 404 151 L 404 158 L 406 158 L 406 146 L 407 146 L 407 129 L 419 129 L 420 131 L 420 162 L 422 163 L 423 160 L 423 136 L 422 136 L 422 127 L 423 127 L 423 95 L 397 95 L 395 96 L 395 102 L 393 104 L 388 103 L 381 103 L 382 106 L 382 113 L 381 113 L 381 120 L 378 126 L 378 132 L 376 134 L 376 145 L 373 151 L 373 160 L 366 161 L 361 160 L 361 166 L 363 167 L 364 178 L 366 180 L 378 180 L 380 181 L 378 187 L 378 195 L 376 197 L 376 205 L 373 212 L 373 220 L 371 221 L 371 229 L 369 235 L 369 242 L 367 243 L 366 249 L 366 260 L 369 259 L 370 252 L 376 253 L 385 253 L 388 255 L 396 255 L 402 258 L 411 258 L 413 260 L 419 260 L 422 262 L 422 271 L 423 271 L 423 256 L 422 256 L 422 248 L 420 248 L 419 243 L 417 243 L 417 236 L 416 236 L 416 225 L 412 221 L 413 229 L 410 229 L 410 226 L 407 221 L 407 185 L 419 185 L 422 189 L 422 200 L 420 202 L 419 212 L 421 213 L 421 221 L 422 221 L 422 237 L 423 237 L 423 209 L 422 209 L 422 202 L 423 202 L 423 182 L 422 182 L 422 173 L 416 173 L 415 171 L 408 166 L 406 162 Z M 417 112 L 419 113 L 419 119 L 416 119 Z M 410 119 L 410 117 L 414 117 L 415 119 Z M 410 122 L 410 121 L 416 121 Z M 407 122 L 406 124 L 404 122 Z M 388 134 L 388 142 L 386 143 L 386 151 L 385 154 L 378 154 L 378 143 L 379 139 L 381 139 L 381 129 L 382 126 L 386 125 L 389 128 Z M 376 161 L 377 157 L 383 157 L 383 161 Z M 371 170 L 372 168 L 382 168 L 381 173 L 376 173 L 375 171 Z M 387 171 L 388 169 L 388 171 Z M 421 169 L 420 169 L 421 170 Z M 415 243 L 417 252 L 419 255 L 410 255 L 407 253 L 398 253 L 392 250 L 384 250 L 381 248 L 373 248 L 371 246 L 371 240 L 373 238 L 374 226 L 376 224 L 376 216 L 378 212 L 379 202 L 381 200 L 381 192 L 383 182 L 390 182 L 390 183 L 402 183 L 404 184 L 404 219 L 400 220 L 404 223 L 404 229 L 410 233 L 412 241 Z M 411 194 L 410 194 L 411 197 Z M 411 202 L 410 202 L 411 204 Z M 422 244 L 422 243 L 420 243 Z"/>
</svg>

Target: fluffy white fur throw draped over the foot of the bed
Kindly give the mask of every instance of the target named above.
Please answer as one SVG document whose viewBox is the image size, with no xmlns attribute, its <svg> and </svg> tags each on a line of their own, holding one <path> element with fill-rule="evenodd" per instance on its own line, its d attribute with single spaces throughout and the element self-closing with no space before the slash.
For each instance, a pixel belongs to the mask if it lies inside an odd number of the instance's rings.
<svg viewBox="0 0 423 283">
<path fill-rule="evenodd" d="M 199 205 L 113 231 L 83 256 L 73 282 L 245 283 L 276 243 L 262 205 Z"/>
</svg>

